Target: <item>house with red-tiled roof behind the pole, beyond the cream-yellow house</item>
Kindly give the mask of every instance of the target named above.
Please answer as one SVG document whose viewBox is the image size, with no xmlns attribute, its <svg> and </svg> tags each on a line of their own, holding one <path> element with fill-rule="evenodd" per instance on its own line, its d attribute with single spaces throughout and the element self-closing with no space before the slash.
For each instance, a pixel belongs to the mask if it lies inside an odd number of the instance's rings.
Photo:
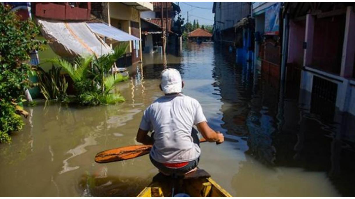
<svg viewBox="0 0 355 199">
<path fill-rule="evenodd" d="M 153 11 L 144 11 L 141 15 L 143 53 L 162 52 L 162 34 L 167 32 L 166 52 L 179 55 L 181 27 L 176 23 L 176 15 L 181 12 L 180 7 L 174 2 L 152 3 Z"/>
</svg>

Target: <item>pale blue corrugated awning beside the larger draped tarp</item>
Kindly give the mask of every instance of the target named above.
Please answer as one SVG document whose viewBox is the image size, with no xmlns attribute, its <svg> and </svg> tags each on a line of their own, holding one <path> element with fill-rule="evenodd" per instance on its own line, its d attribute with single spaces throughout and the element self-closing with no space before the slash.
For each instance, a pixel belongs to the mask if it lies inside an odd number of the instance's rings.
<svg viewBox="0 0 355 199">
<path fill-rule="evenodd" d="M 106 36 L 110 39 L 114 39 L 116 41 L 134 41 L 141 40 L 133 35 L 130 35 L 118 28 L 113 26 L 109 26 L 105 23 L 87 23 L 89 27 L 94 31 L 94 33 L 100 36 Z"/>
</svg>

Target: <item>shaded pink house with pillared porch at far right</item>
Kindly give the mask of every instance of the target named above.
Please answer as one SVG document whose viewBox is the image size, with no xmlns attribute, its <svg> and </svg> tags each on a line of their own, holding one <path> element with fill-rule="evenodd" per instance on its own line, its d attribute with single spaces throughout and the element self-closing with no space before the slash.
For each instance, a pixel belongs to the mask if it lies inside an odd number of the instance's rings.
<svg viewBox="0 0 355 199">
<path fill-rule="evenodd" d="M 354 2 L 286 2 L 281 77 L 318 110 L 355 115 Z"/>
</svg>

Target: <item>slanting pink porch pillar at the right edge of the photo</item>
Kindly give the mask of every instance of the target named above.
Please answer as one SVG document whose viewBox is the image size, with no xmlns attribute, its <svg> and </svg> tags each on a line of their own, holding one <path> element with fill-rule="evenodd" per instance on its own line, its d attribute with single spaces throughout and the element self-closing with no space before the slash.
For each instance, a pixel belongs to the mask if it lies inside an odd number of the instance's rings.
<svg viewBox="0 0 355 199">
<path fill-rule="evenodd" d="M 343 43 L 342 66 L 340 68 L 340 76 L 352 77 L 354 69 L 355 55 L 355 13 L 353 6 L 346 8 L 345 34 Z"/>
</svg>

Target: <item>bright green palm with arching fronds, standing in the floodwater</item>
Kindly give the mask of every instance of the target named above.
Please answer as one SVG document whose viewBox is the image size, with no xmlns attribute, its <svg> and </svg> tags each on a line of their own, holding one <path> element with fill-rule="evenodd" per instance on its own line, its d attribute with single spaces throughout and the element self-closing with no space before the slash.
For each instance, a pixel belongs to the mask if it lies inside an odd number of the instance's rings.
<svg viewBox="0 0 355 199">
<path fill-rule="evenodd" d="M 124 55 L 127 44 L 118 45 L 113 53 L 101 57 L 77 57 L 74 64 L 62 58 L 51 59 L 50 62 L 65 69 L 74 82 L 77 92 L 74 102 L 82 105 L 100 105 L 122 102 L 125 99 L 120 93 L 111 93 L 114 84 L 128 79 L 121 74 L 110 74 L 113 64 Z"/>
</svg>

